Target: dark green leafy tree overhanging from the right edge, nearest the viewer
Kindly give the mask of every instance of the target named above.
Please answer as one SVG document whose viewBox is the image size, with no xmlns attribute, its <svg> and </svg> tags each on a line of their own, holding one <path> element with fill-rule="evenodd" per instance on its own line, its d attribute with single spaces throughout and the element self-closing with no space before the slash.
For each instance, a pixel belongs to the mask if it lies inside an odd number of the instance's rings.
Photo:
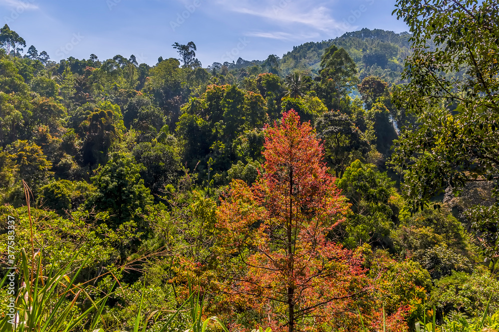
<svg viewBox="0 0 499 332">
<path fill-rule="evenodd" d="M 446 187 L 457 192 L 467 182 L 499 178 L 499 53 L 491 51 L 499 7 L 494 0 L 398 0 L 394 13 L 409 25 L 414 49 L 396 103 L 420 126 L 401 133 L 392 160 L 416 209 Z M 472 215 L 486 255 L 497 261 L 498 203 L 478 205 Z"/>
</svg>

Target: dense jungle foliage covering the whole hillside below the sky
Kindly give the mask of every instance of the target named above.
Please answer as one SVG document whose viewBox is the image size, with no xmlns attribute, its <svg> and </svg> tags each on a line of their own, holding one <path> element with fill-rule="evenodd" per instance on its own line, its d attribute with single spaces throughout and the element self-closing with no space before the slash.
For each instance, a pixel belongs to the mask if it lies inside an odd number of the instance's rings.
<svg viewBox="0 0 499 332">
<path fill-rule="evenodd" d="M 208 67 L 3 26 L 0 330 L 497 331 L 498 10 Z"/>
</svg>

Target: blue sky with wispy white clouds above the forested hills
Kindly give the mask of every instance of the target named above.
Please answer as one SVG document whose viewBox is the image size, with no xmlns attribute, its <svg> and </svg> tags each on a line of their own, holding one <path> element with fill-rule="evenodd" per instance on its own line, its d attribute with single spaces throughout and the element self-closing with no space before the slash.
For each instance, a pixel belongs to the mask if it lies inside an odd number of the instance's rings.
<svg viewBox="0 0 499 332">
<path fill-rule="evenodd" d="M 51 60 L 100 60 L 134 54 L 156 64 L 178 57 L 174 42 L 194 41 L 197 58 L 213 62 L 264 60 L 308 41 L 363 27 L 402 32 L 395 0 L 0 0 L 7 23 Z M 27 47 L 25 50 L 27 50 Z"/>
</svg>

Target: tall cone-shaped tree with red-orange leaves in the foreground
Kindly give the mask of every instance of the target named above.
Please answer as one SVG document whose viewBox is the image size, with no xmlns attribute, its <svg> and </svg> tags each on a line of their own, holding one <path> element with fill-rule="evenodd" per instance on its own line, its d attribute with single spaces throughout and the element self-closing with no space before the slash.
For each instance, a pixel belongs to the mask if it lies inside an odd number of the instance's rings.
<svg viewBox="0 0 499 332">
<path fill-rule="evenodd" d="M 313 129 L 295 111 L 285 113 L 265 129 L 263 155 L 257 182 L 234 180 L 217 212 L 219 245 L 238 266 L 227 292 L 265 313 L 261 323 L 273 331 L 358 322 L 352 302 L 366 287 L 361 257 L 327 239 L 349 206 Z"/>
</svg>

